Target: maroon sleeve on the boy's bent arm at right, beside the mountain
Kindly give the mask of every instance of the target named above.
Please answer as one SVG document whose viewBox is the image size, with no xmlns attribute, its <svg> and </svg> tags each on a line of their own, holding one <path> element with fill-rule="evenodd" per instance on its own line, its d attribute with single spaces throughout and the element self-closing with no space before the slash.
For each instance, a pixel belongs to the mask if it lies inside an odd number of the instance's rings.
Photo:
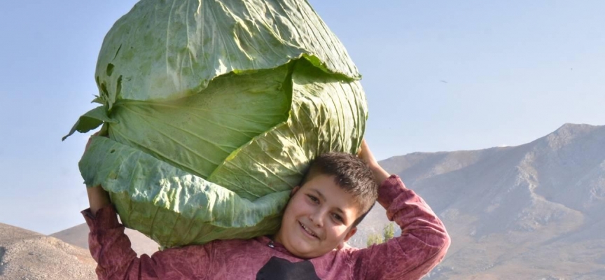
<svg viewBox="0 0 605 280">
<path fill-rule="evenodd" d="M 401 236 L 352 253 L 354 279 L 420 279 L 445 256 L 450 236 L 426 202 L 391 175 L 378 202 L 401 228 Z"/>
</svg>

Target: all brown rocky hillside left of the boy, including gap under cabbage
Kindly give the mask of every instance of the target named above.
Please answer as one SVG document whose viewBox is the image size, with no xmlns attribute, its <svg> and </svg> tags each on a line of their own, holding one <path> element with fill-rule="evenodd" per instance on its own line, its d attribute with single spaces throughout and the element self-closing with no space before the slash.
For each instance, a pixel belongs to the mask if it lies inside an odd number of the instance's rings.
<svg viewBox="0 0 605 280">
<path fill-rule="evenodd" d="M 158 244 L 140 232 L 127 229 L 126 234 L 139 255 L 158 251 Z M 0 280 L 92 280 L 95 267 L 86 224 L 46 236 L 0 223 Z"/>
</svg>

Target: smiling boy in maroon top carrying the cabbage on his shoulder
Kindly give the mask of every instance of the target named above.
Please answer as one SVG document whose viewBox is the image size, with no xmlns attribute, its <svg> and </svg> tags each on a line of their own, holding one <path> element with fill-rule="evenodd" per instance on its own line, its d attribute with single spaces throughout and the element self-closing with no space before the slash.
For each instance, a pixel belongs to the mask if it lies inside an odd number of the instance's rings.
<svg viewBox="0 0 605 280">
<path fill-rule="evenodd" d="M 420 279 L 443 259 L 450 237 L 430 207 L 389 175 L 363 141 L 353 155 L 314 160 L 292 190 L 281 227 L 272 237 L 215 240 L 136 253 L 107 193 L 88 188 L 89 246 L 99 279 Z M 380 188 L 377 189 L 377 186 Z M 345 248 L 375 200 L 402 235 L 370 248 Z"/>
</svg>

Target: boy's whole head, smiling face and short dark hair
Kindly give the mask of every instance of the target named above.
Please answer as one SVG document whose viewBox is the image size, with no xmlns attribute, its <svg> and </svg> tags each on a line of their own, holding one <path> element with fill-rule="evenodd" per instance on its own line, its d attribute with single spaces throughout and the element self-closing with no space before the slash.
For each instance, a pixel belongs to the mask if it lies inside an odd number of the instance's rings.
<svg viewBox="0 0 605 280">
<path fill-rule="evenodd" d="M 342 248 L 377 198 L 368 166 L 354 155 L 315 159 L 292 197 L 275 240 L 302 258 Z"/>
</svg>

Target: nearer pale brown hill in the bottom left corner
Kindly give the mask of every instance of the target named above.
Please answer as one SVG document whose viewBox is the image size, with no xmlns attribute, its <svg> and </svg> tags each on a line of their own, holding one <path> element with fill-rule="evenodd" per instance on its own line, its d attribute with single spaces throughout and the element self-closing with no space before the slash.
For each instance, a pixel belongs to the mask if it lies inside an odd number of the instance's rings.
<svg viewBox="0 0 605 280">
<path fill-rule="evenodd" d="M 88 250 L 0 223 L 0 280 L 97 279 Z"/>
</svg>

